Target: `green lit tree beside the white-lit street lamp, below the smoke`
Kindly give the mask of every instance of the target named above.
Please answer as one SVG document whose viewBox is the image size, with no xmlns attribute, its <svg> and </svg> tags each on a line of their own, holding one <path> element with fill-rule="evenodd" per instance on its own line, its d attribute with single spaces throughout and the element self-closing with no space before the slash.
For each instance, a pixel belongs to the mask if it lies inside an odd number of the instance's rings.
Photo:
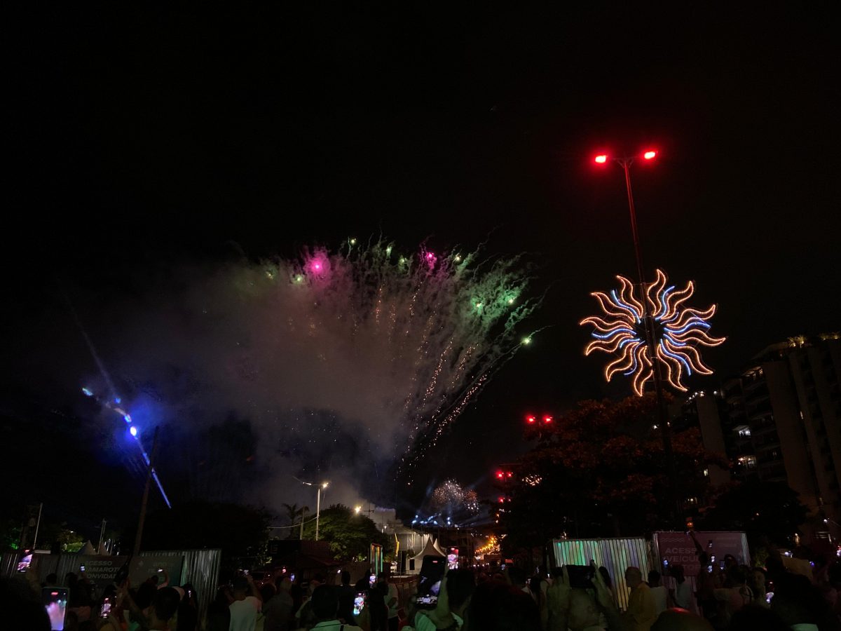
<svg viewBox="0 0 841 631">
<path fill-rule="evenodd" d="M 304 538 L 315 538 L 315 521 L 304 524 Z M 334 504 L 321 511 L 319 538 L 330 542 L 334 558 L 340 560 L 368 559 L 371 544 L 380 544 L 386 549 L 390 542 L 369 517 L 357 515 L 343 504 Z"/>
</svg>

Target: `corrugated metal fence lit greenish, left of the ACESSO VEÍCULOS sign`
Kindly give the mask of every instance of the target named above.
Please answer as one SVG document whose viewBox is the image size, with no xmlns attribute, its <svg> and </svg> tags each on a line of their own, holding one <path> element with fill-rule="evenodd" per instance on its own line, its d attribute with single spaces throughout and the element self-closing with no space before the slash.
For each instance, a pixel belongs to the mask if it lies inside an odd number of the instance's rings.
<svg viewBox="0 0 841 631">
<path fill-rule="evenodd" d="M 644 577 L 653 567 L 651 546 L 643 538 L 610 539 L 556 539 L 552 549 L 555 565 L 590 565 L 594 560 L 597 567 L 604 566 L 613 581 L 613 593 L 621 609 L 627 609 L 629 588 L 625 582 L 625 570 L 638 567 Z"/>
</svg>

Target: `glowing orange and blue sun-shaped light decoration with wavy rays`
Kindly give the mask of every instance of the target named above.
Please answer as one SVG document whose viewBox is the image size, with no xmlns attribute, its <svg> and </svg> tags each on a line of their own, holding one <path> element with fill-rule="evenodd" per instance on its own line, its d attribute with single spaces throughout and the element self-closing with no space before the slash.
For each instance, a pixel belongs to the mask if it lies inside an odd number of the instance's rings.
<svg viewBox="0 0 841 631">
<path fill-rule="evenodd" d="M 581 325 L 595 327 L 593 342 L 584 349 L 584 355 L 593 351 L 616 353 L 618 357 L 605 367 L 605 379 L 621 372 L 632 376 L 632 385 L 637 396 L 643 395 L 645 382 L 652 379 L 652 362 L 648 357 L 643 303 L 634 295 L 634 285 L 623 276 L 617 276 L 621 283 L 619 293 L 612 289 L 610 294 L 600 291 L 593 296 L 608 316 L 584 318 Z M 664 379 L 675 389 L 686 391 L 682 383 L 685 376 L 694 372 L 712 374 L 712 370 L 701 361 L 697 345 L 713 347 L 724 342 L 724 337 L 710 337 L 709 319 L 716 313 L 716 305 L 707 310 L 687 309 L 683 305 L 695 291 L 690 281 L 685 289 L 674 290 L 666 286 L 666 275 L 657 270 L 657 280 L 648 284 L 645 299 L 648 312 L 653 318 L 653 356 L 663 367 Z"/>
</svg>

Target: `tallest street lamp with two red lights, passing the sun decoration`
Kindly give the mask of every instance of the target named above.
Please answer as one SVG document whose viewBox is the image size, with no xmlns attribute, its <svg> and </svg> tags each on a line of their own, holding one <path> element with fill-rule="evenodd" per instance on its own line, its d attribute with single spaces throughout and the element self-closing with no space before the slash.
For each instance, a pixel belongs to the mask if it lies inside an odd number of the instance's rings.
<svg viewBox="0 0 841 631">
<path fill-rule="evenodd" d="M 628 210 L 631 213 L 631 234 L 633 236 L 633 250 L 634 256 L 637 259 L 637 278 L 639 279 L 640 292 L 643 296 L 647 296 L 647 284 L 645 281 L 645 273 L 643 272 L 643 255 L 639 249 L 639 232 L 637 231 L 637 212 L 634 209 L 633 193 L 631 188 L 631 165 L 637 157 L 642 157 L 643 160 L 650 161 L 657 156 L 657 151 L 654 149 L 647 149 L 642 153 L 632 156 L 611 156 L 607 153 L 600 153 L 593 158 L 593 161 L 598 165 L 607 164 L 612 160 L 616 162 L 625 172 L 625 189 L 628 197 Z M 672 510 L 677 510 L 680 513 L 680 506 L 678 506 L 677 493 L 675 492 L 676 474 L 674 471 L 674 453 L 672 451 L 672 436 L 671 425 L 666 415 L 666 406 L 663 397 L 663 375 L 660 372 L 660 363 L 654 357 L 654 319 L 651 313 L 651 306 L 648 300 L 643 300 L 643 326 L 645 328 L 646 346 L 648 349 L 648 360 L 652 365 L 654 393 L 657 396 L 657 414 L 659 418 L 659 427 L 662 428 L 661 435 L 663 437 L 663 451 L 666 458 L 666 466 L 669 470 L 669 490 L 672 493 L 671 504 Z M 677 517 L 676 513 L 674 517 Z"/>
</svg>

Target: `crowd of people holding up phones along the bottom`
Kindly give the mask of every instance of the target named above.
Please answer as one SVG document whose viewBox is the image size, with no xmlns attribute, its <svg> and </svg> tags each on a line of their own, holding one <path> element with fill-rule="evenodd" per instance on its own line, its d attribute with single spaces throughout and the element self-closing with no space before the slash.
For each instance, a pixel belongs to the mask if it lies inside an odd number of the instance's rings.
<svg viewBox="0 0 841 631">
<path fill-rule="evenodd" d="M 699 559 L 706 561 L 704 552 Z M 154 575 L 138 586 L 125 580 L 97 594 L 87 577 L 66 575 L 67 631 L 741 631 L 743 629 L 841 629 L 841 561 L 817 559 L 792 571 L 772 554 L 764 568 L 748 568 L 727 556 L 722 565 L 701 565 L 690 586 L 680 565 L 669 569 L 668 586 L 657 571 L 628 567 L 627 607 L 604 567 L 564 566 L 549 577 L 531 578 L 517 567 L 486 573 L 450 570 L 437 602 L 419 604 L 416 594 L 399 595 L 393 581 L 378 575 L 351 584 L 328 585 L 323 575 L 293 583 L 278 570 L 259 581 L 243 573 L 220 586 L 204 621 L 193 586 L 170 586 Z M 584 579 L 579 571 L 589 570 Z M 0 607 L 7 628 L 50 629 L 40 601 L 42 585 L 0 580 Z M 332 576 L 331 576 L 332 578 Z M 163 579 L 161 581 L 161 579 Z M 647 579 L 647 580 L 645 580 Z M 582 582 L 582 580 L 584 582 Z M 625 602 L 625 599 L 622 599 Z M 103 603 L 109 607 L 103 607 Z"/>
</svg>

